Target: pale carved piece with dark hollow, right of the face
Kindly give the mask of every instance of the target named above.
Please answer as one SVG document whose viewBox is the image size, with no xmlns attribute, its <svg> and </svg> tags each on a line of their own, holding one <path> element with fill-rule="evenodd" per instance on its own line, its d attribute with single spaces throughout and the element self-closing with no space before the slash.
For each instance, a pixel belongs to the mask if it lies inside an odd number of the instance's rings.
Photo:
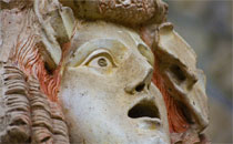
<svg viewBox="0 0 233 144">
<path fill-rule="evenodd" d="M 171 23 L 160 25 L 155 38 L 154 51 L 166 89 L 189 109 L 197 131 L 202 131 L 209 123 L 207 97 L 205 76 L 196 69 L 196 55 Z"/>
</svg>

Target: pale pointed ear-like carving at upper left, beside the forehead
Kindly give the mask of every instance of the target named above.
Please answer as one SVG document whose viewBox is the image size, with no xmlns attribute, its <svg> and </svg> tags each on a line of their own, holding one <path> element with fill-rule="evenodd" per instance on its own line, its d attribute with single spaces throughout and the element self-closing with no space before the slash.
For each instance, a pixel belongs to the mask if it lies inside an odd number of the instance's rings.
<svg viewBox="0 0 233 144">
<path fill-rule="evenodd" d="M 57 0 L 34 0 L 34 12 L 48 55 L 44 59 L 49 66 L 58 65 L 62 56 L 62 44 L 70 40 L 74 28 L 72 10 L 62 7 Z"/>
</svg>

